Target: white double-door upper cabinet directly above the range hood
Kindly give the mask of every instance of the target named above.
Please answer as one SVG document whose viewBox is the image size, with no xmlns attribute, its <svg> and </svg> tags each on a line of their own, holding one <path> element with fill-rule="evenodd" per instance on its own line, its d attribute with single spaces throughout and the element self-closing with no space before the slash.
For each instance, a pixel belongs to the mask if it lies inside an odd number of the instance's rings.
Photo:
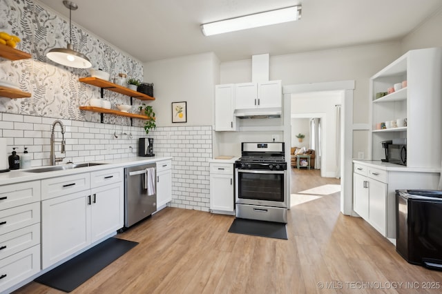
<svg viewBox="0 0 442 294">
<path fill-rule="evenodd" d="M 235 109 L 280 108 L 281 81 L 236 84 Z"/>
</svg>

